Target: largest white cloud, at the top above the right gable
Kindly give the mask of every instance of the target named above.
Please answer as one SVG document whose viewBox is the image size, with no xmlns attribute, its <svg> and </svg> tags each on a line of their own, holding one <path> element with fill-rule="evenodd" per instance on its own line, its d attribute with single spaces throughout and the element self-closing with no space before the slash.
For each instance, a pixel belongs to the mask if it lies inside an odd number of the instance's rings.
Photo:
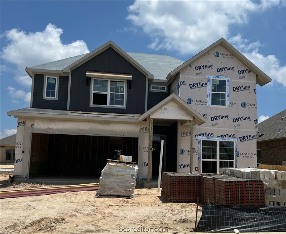
<svg viewBox="0 0 286 234">
<path fill-rule="evenodd" d="M 227 38 L 232 25 L 248 23 L 250 12 L 273 5 L 279 2 L 136 1 L 128 7 L 127 19 L 153 38 L 150 48 L 190 54 Z"/>
</svg>

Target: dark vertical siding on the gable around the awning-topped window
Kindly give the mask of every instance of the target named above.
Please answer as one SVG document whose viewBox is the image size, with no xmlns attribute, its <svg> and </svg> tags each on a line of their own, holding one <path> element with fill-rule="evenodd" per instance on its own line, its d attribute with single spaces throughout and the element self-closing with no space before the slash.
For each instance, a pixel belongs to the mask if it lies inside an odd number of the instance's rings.
<svg viewBox="0 0 286 234">
<path fill-rule="evenodd" d="M 132 80 L 128 80 L 126 85 L 126 109 L 90 107 L 90 78 L 88 78 L 87 86 L 87 70 L 132 74 Z M 72 70 L 69 109 L 85 112 L 143 114 L 145 112 L 145 90 L 146 76 L 114 49 L 108 48 Z"/>
</svg>

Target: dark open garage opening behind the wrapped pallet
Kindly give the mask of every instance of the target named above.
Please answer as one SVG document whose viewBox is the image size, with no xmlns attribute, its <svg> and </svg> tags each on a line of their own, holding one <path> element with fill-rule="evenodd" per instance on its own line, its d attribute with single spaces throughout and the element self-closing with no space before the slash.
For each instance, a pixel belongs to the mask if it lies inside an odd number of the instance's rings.
<svg viewBox="0 0 286 234">
<path fill-rule="evenodd" d="M 138 161 L 137 137 L 32 133 L 29 178 L 99 178 L 107 159 Z"/>
</svg>

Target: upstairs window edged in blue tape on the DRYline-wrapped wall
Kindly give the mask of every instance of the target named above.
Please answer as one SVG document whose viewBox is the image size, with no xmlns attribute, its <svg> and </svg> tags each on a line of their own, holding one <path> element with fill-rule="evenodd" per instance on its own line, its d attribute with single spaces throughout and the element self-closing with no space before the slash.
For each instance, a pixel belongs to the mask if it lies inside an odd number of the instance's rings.
<svg viewBox="0 0 286 234">
<path fill-rule="evenodd" d="M 224 76 L 207 76 L 207 106 L 229 107 L 229 78 Z"/>
</svg>

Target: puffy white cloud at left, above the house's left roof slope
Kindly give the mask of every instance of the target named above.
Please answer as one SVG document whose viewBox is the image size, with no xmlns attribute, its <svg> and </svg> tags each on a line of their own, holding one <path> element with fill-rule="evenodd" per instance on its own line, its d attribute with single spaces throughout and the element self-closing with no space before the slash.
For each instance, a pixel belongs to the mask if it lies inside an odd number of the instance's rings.
<svg viewBox="0 0 286 234">
<path fill-rule="evenodd" d="M 87 45 L 82 40 L 74 41 L 70 44 L 63 44 L 61 34 L 63 30 L 49 23 L 42 32 L 26 33 L 19 29 L 6 31 L 1 37 L 5 37 L 8 44 L 2 48 L 1 58 L 6 62 L 16 65 L 14 79 L 21 85 L 30 87 L 32 79 L 26 74 L 25 68 L 52 62 L 60 59 L 69 58 L 76 55 L 88 53 Z M 1 67 L 7 71 L 7 65 Z M 9 93 L 12 87 L 8 87 Z M 18 98 L 28 102 L 29 93 L 23 90 L 13 90 Z M 25 94 L 20 94 L 21 92 Z M 16 97 L 14 97 L 16 98 Z M 16 101 L 16 99 L 13 99 Z"/>
</svg>

